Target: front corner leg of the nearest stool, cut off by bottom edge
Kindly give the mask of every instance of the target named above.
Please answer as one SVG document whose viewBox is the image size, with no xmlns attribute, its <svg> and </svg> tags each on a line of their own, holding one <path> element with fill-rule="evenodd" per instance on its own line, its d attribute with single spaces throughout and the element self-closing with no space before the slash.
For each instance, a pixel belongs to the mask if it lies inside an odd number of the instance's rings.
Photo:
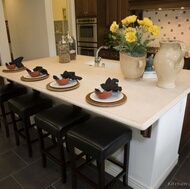
<svg viewBox="0 0 190 189">
<path fill-rule="evenodd" d="M 99 182 L 99 187 L 98 189 L 104 189 L 105 188 L 105 162 L 97 162 L 97 169 L 98 169 L 98 182 Z"/>
</svg>

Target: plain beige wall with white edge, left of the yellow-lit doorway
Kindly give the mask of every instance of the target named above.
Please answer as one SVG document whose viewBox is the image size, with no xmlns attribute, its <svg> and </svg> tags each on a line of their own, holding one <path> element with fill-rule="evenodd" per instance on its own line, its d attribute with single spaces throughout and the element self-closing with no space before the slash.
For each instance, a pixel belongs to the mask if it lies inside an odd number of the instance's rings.
<svg viewBox="0 0 190 189">
<path fill-rule="evenodd" d="M 56 55 L 51 0 L 3 0 L 14 58 Z"/>
</svg>

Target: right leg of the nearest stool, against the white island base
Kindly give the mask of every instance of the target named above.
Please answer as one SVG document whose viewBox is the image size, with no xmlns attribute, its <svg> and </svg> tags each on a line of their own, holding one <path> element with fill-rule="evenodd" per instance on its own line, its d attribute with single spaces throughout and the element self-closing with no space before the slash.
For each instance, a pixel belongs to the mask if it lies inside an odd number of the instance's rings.
<svg viewBox="0 0 190 189">
<path fill-rule="evenodd" d="M 128 170 L 129 170 L 129 150 L 130 150 L 130 143 L 124 146 L 124 163 L 123 163 L 123 170 L 125 171 L 125 175 L 123 175 L 123 185 L 128 185 Z"/>
</svg>

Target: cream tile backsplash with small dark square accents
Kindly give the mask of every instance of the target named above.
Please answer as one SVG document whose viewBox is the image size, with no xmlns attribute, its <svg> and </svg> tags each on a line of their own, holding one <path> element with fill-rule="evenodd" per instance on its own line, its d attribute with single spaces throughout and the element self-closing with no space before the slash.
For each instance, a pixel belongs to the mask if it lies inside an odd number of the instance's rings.
<svg viewBox="0 0 190 189">
<path fill-rule="evenodd" d="M 159 47 L 161 39 L 183 41 L 190 50 L 190 10 L 144 11 L 143 17 L 150 18 L 160 27 L 160 35 L 149 46 Z"/>
</svg>

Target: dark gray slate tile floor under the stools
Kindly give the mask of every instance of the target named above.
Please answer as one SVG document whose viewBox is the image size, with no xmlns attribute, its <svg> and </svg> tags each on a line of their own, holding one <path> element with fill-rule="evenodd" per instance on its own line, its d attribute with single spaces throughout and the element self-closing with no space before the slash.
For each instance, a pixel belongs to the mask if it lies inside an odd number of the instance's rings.
<svg viewBox="0 0 190 189">
<path fill-rule="evenodd" d="M 53 162 L 48 160 L 47 167 L 42 168 L 38 142 L 33 144 L 33 149 L 33 157 L 28 158 L 25 142 L 21 140 L 20 146 L 16 146 L 12 129 L 10 137 L 7 138 L 2 124 L 0 128 L 0 189 L 71 189 L 70 170 L 68 169 L 67 183 L 62 184 L 60 169 Z M 92 178 L 96 178 L 94 172 L 87 171 Z M 127 187 L 124 187 L 121 182 L 113 187 L 113 189 L 124 188 Z M 178 164 L 159 189 L 189 188 L 190 141 L 181 151 Z M 79 182 L 78 189 L 92 188 Z"/>
</svg>

